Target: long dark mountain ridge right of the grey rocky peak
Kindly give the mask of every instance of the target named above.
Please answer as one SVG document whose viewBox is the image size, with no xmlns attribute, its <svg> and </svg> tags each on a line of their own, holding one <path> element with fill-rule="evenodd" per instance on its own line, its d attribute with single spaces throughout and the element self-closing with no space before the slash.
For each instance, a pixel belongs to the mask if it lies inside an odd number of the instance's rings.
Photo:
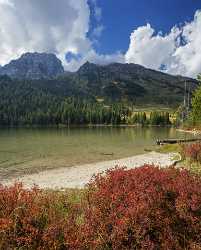
<svg viewBox="0 0 201 250">
<path fill-rule="evenodd" d="M 85 63 L 71 76 L 82 89 L 98 99 L 134 103 L 178 104 L 183 100 L 185 82 L 190 92 L 195 79 L 173 76 L 137 64 Z"/>
</svg>

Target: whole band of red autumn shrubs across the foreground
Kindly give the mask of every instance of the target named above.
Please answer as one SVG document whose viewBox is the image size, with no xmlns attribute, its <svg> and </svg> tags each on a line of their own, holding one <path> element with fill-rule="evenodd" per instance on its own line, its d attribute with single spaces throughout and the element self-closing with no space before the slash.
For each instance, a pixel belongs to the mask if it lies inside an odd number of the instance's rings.
<svg viewBox="0 0 201 250">
<path fill-rule="evenodd" d="M 0 188 L 0 249 L 201 249 L 201 179 L 145 165 L 94 177 L 79 202 Z"/>
</svg>

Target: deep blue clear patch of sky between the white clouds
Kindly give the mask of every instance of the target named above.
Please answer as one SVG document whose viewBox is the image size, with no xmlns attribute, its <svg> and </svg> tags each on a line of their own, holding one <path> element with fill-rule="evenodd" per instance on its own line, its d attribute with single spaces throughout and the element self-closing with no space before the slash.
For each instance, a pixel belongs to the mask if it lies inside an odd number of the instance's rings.
<svg viewBox="0 0 201 250">
<path fill-rule="evenodd" d="M 150 23 L 156 32 L 168 33 L 174 25 L 193 20 L 200 0 L 98 0 L 102 9 L 99 53 L 125 52 L 134 29 Z M 93 22 L 92 18 L 92 22 Z M 93 24 L 91 24 L 93 26 Z"/>
</svg>

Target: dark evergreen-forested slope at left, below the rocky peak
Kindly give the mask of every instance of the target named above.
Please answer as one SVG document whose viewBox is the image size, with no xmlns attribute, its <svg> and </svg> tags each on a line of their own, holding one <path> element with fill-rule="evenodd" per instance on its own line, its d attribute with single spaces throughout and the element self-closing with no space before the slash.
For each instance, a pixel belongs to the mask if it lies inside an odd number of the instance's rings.
<svg viewBox="0 0 201 250">
<path fill-rule="evenodd" d="M 39 82 L 0 79 L 0 125 L 119 124 L 122 104 L 105 106 L 41 87 Z"/>
</svg>

